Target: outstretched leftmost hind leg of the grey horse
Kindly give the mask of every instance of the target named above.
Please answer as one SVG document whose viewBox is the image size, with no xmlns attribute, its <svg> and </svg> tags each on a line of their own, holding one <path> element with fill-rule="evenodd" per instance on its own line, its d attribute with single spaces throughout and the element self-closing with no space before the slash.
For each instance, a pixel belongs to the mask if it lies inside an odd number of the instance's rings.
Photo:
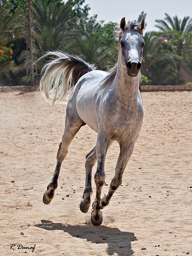
<svg viewBox="0 0 192 256">
<path fill-rule="evenodd" d="M 59 172 L 61 164 L 68 153 L 68 146 L 79 131 L 81 126 L 85 125 L 84 121 L 79 117 L 75 109 L 67 108 L 65 119 L 65 131 L 63 133 L 62 142 L 59 145 L 57 152 L 57 164 L 52 177 L 52 180 L 47 186 L 47 190 L 43 196 L 43 203 L 49 204 L 54 197 L 55 189 L 58 186 Z"/>
</svg>

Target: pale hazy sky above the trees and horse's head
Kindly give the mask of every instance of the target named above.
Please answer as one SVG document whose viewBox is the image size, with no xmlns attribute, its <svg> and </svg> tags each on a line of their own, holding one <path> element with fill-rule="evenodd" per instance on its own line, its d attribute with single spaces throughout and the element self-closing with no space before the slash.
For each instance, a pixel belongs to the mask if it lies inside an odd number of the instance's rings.
<svg viewBox="0 0 192 256">
<path fill-rule="evenodd" d="M 139 14 L 147 12 L 145 31 L 158 30 L 154 27 L 156 19 L 164 19 L 164 13 L 171 17 L 177 14 L 179 19 L 184 16 L 192 18 L 192 0 L 85 0 L 91 10 L 90 16 L 98 14 L 98 20 L 120 23 L 121 18 L 135 20 Z"/>
</svg>

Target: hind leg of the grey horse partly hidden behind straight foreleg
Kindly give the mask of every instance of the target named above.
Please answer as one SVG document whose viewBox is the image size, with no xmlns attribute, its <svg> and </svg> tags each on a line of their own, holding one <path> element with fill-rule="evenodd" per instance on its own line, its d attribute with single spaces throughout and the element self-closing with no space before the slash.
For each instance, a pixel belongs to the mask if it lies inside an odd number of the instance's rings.
<svg viewBox="0 0 192 256">
<path fill-rule="evenodd" d="M 96 146 L 86 155 L 85 161 L 85 172 L 86 172 L 86 180 L 85 180 L 85 189 L 83 193 L 83 198 L 81 199 L 81 203 L 79 205 L 81 212 L 88 212 L 89 206 L 91 204 L 91 195 L 92 191 L 92 168 L 97 161 L 96 155 Z"/>
</svg>

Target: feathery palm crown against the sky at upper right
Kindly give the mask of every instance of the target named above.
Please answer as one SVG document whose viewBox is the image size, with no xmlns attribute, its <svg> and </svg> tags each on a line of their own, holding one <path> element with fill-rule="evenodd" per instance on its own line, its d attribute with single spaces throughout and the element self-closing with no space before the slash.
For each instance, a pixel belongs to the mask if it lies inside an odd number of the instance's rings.
<svg viewBox="0 0 192 256">
<path fill-rule="evenodd" d="M 160 30 L 164 29 L 172 29 L 181 31 L 182 33 L 191 32 L 192 31 L 192 18 L 190 19 L 189 16 L 184 17 L 183 20 L 178 19 L 178 16 L 173 16 L 173 19 L 170 17 L 169 14 L 165 13 L 164 20 L 155 20 L 158 24 L 155 25 L 156 28 Z M 171 27 L 170 27 L 170 26 Z"/>
</svg>

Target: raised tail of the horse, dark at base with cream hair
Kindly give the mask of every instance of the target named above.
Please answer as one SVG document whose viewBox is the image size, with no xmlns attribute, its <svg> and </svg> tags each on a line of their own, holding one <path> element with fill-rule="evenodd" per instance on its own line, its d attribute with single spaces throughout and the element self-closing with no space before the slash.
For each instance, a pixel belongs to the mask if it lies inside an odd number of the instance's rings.
<svg viewBox="0 0 192 256">
<path fill-rule="evenodd" d="M 46 52 L 39 60 L 44 57 L 52 57 L 52 60 L 45 63 L 42 68 L 40 92 L 52 106 L 66 99 L 68 92 L 73 89 L 81 76 L 96 69 L 95 65 L 90 65 L 66 52 Z"/>
</svg>

